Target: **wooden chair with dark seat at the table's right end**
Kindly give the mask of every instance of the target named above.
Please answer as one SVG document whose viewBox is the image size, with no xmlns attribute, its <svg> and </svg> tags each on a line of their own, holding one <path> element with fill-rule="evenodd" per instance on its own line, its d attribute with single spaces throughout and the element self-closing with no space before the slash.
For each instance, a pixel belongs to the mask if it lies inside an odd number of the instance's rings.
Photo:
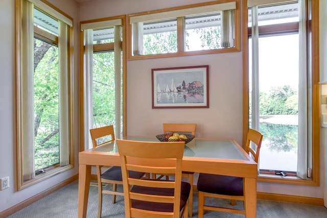
<svg viewBox="0 0 327 218">
<path fill-rule="evenodd" d="M 249 129 L 245 151 L 249 153 L 257 163 L 259 159 L 262 138 L 263 135 L 260 132 Z M 251 148 L 251 141 L 255 144 L 253 144 L 253 146 L 256 148 Z M 199 190 L 199 218 L 203 217 L 204 209 L 245 214 L 245 209 L 237 210 L 233 208 L 222 208 L 205 205 L 205 197 L 230 199 L 231 205 L 235 205 L 235 201 L 240 200 L 243 201 L 245 205 L 246 202 L 243 192 L 243 178 L 200 173 L 197 188 Z"/>
</svg>

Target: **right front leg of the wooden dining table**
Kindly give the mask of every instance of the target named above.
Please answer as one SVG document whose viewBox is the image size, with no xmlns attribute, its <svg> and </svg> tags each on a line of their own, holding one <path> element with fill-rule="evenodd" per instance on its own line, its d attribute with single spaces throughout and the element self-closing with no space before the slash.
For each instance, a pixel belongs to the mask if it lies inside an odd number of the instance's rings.
<svg viewBox="0 0 327 218">
<path fill-rule="evenodd" d="M 245 217 L 256 217 L 256 179 L 244 178 Z"/>
</svg>

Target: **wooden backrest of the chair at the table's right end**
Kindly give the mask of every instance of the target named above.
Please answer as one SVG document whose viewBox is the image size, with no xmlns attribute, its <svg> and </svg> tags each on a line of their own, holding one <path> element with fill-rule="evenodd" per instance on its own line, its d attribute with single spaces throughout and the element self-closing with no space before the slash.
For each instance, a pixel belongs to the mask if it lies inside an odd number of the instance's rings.
<svg viewBox="0 0 327 218">
<path fill-rule="evenodd" d="M 262 138 L 263 135 L 260 132 L 249 129 L 246 137 L 245 151 L 253 156 L 253 159 L 256 163 L 258 163 L 259 160 Z M 251 143 L 251 141 L 253 143 Z M 255 148 L 251 147 L 251 144 L 254 144 Z"/>
</svg>

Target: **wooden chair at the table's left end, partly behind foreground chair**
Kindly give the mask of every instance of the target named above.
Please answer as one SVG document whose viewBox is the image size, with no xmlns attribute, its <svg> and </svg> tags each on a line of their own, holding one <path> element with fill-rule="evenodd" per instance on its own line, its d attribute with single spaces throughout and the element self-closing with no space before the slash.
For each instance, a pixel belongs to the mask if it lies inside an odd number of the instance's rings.
<svg viewBox="0 0 327 218">
<path fill-rule="evenodd" d="M 95 129 L 90 129 L 90 135 L 92 139 L 93 148 L 101 146 L 105 143 L 115 140 L 113 126 L 105 126 Z M 103 139 L 101 143 L 97 143 L 97 139 Z M 123 184 L 122 169 L 120 166 L 111 166 L 104 173 L 101 172 L 103 166 L 97 167 L 97 178 L 98 178 L 98 195 L 99 195 L 99 205 L 98 205 L 98 217 L 101 217 L 102 211 L 102 194 L 112 195 L 112 203 L 116 202 L 116 195 L 124 196 L 123 192 L 117 191 L 117 185 Z M 107 166 L 108 167 L 108 166 Z M 132 172 L 131 175 L 135 178 L 141 178 L 144 174 L 138 172 Z M 112 191 L 103 190 L 103 183 L 111 183 Z"/>
</svg>

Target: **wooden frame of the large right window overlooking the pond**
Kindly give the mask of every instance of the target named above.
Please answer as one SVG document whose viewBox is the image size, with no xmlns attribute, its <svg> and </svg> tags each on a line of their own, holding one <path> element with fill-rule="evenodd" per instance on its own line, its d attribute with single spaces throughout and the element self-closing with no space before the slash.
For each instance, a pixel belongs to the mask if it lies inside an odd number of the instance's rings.
<svg viewBox="0 0 327 218">
<path fill-rule="evenodd" d="M 312 180 L 304 180 L 293 176 L 282 177 L 275 175 L 259 175 L 257 181 L 269 183 L 283 183 L 292 185 L 319 186 L 320 183 L 320 86 L 319 86 L 319 0 L 311 0 L 310 31 L 312 34 Z M 243 144 L 249 128 L 249 79 L 248 79 L 248 8 L 247 1 L 242 2 L 242 45 L 243 45 Z M 280 25 L 279 30 L 285 31 L 287 25 Z M 267 28 L 263 30 L 269 33 Z M 295 26 L 287 28 L 294 29 Z M 276 31 L 276 29 L 274 30 Z"/>
</svg>

